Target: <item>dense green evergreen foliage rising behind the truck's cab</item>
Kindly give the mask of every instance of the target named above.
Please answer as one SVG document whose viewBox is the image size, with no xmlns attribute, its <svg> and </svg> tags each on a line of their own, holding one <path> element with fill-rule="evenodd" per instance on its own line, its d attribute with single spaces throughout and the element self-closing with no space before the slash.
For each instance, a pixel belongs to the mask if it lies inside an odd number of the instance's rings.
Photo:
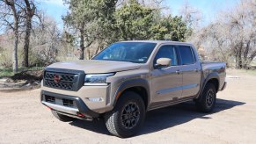
<svg viewBox="0 0 256 144">
<path fill-rule="evenodd" d="M 84 59 L 87 47 L 98 53 L 106 45 L 120 40 L 185 41 L 189 33 L 181 17 L 165 17 L 161 10 L 140 4 L 137 0 L 128 0 L 118 7 L 117 0 L 65 2 L 69 4 L 69 13 L 63 20 L 77 32 L 75 41 L 79 41 L 79 59 Z M 88 49 L 86 52 L 90 53 Z"/>
</svg>

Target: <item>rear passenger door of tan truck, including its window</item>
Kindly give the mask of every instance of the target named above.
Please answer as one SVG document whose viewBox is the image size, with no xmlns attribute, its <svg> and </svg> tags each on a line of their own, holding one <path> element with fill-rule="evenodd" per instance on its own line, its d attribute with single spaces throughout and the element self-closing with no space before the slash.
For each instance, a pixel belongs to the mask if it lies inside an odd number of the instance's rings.
<svg viewBox="0 0 256 144">
<path fill-rule="evenodd" d="M 196 54 L 190 46 L 178 46 L 179 59 L 182 67 L 180 71 L 183 74 L 182 97 L 191 97 L 200 90 L 201 66 L 196 59 Z"/>
</svg>

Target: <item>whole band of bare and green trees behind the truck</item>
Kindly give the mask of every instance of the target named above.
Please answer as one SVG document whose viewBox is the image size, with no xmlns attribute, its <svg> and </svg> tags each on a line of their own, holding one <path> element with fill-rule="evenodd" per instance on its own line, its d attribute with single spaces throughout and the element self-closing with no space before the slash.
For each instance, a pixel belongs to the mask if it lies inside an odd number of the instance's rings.
<svg viewBox="0 0 256 144">
<path fill-rule="evenodd" d="M 173 16 L 165 0 L 63 0 L 63 28 L 34 0 L 0 0 L 0 68 L 44 67 L 91 59 L 120 40 L 194 43 L 201 58 L 251 68 L 256 57 L 256 0 L 242 0 L 201 25 L 201 11 L 187 2 Z"/>
</svg>

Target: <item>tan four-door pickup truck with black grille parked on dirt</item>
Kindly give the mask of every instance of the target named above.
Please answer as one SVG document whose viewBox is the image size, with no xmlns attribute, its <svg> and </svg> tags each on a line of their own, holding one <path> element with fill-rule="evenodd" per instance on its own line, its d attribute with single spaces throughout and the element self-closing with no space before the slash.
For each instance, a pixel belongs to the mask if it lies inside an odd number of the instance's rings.
<svg viewBox="0 0 256 144">
<path fill-rule="evenodd" d="M 102 118 L 110 133 L 126 138 L 151 110 L 193 100 L 201 112 L 212 112 L 225 76 L 225 63 L 201 62 L 190 43 L 122 41 L 92 60 L 45 68 L 40 101 L 61 121 Z"/>
</svg>

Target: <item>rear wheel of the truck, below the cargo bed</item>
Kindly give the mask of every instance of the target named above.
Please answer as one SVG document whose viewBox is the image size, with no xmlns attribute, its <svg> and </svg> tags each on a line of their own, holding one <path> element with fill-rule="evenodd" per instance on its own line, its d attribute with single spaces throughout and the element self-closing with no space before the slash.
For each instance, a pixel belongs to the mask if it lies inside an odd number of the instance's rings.
<svg viewBox="0 0 256 144">
<path fill-rule="evenodd" d="M 197 109 L 200 112 L 212 112 L 216 104 L 216 87 L 213 83 L 207 83 L 201 93 L 201 97 L 195 100 Z"/>
</svg>

